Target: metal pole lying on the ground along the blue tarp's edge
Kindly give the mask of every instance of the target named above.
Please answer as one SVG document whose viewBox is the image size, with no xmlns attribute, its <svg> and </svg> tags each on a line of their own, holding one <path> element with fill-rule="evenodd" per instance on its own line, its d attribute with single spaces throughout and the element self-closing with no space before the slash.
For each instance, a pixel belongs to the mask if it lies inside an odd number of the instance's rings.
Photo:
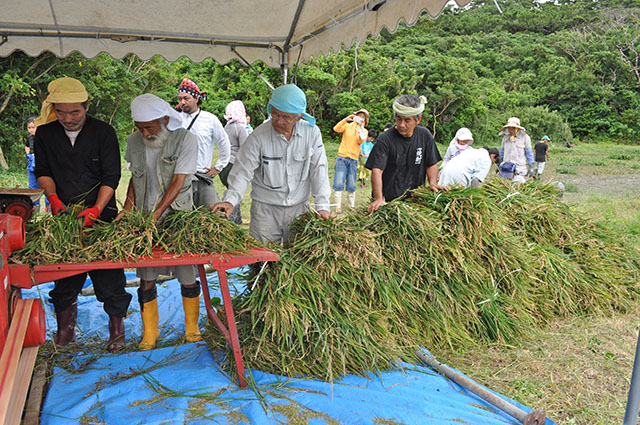
<svg viewBox="0 0 640 425">
<path fill-rule="evenodd" d="M 422 351 L 416 350 L 416 355 L 430 368 L 440 372 L 442 375 L 451 379 L 456 384 L 471 391 L 478 397 L 482 398 L 484 401 L 493 404 L 495 407 L 502 410 L 509 416 L 516 418 L 520 423 L 524 425 L 543 425 L 546 422 L 546 414 L 544 409 L 540 408 L 534 410 L 533 412 L 525 413 L 522 409 L 514 406 L 506 400 L 501 399 L 491 391 L 481 387 L 466 376 L 463 376 L 454 371 L 449 366 L 440 363 L 433 357 L 427 356 Z"/>
</svg>

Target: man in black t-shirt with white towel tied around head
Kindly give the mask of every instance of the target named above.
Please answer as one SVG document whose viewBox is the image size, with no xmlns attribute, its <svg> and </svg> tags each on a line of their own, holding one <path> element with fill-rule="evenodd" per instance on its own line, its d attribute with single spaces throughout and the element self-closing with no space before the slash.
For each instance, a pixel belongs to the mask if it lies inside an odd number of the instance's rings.
<svg viewBox="0 0 640 425">
<path fill-rule="evenodd" d="M 371 170 L 373 202 L 369 212 L 401 197 L 407 190 L 425 184 L 434 192 L 438 186 L 438 166 L 442 160 L 431 132 L 420 127 L 424 97 L 402 95 L 393 102 L 396 125 L 383 132 L 369 155 L 365 167 Z"/>
</svg>

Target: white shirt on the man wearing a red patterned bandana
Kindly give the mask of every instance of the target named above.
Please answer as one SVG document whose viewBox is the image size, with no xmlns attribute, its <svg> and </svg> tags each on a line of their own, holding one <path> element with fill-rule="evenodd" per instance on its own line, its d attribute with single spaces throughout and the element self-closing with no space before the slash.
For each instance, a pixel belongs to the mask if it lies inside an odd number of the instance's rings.
<svg viewBox="0 0 640 425">
<path fill-rule="evenodd" d="M 200 115 L 198 115 L 198 112 L 200 112 Z M 182 126 L 184 128 L 188 128 L 191 121 L 198 115 L 193 126 L 191 126 L 191 132 L 198 138 L 198 160 L 196 167 L 198 172 L 205 173 L 207 169 L 211 168 L 215 145 L 218 145 L 220 155 L 214 168 L 222 171 L 231 158 L 231 146 L 229 144 L 229 136 L 227 136 L 226 131 L 224 131 L 224 127 L 222 127 L 218 117 L 211 112 L 201 109 L 193 114 L 181 112 L 180 115 L 182 116 Z"/>
</svg>

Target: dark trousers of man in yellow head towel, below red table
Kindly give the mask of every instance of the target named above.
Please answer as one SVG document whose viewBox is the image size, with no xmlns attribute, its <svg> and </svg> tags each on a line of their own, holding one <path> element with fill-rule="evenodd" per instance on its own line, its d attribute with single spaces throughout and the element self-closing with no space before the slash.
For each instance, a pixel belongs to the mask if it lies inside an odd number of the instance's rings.
<svg viewBox="0 0 640 425">
<path fill-rule="evenodd" d="M 110 316 L 125 317 L 131 302 L 131 294 L 124 290 L 126 284 L 124 270 L 93 270 L 89 272 L 89 276 L 93 281 L 96 298 L 104 303 L 104 311 Z M 65 311 L 78 300 L 78 294 L 82 291 L 86 279 L 87 273 L 80 273 L 55 281 L 49 296 L 56 313 Z"/>
</svg>

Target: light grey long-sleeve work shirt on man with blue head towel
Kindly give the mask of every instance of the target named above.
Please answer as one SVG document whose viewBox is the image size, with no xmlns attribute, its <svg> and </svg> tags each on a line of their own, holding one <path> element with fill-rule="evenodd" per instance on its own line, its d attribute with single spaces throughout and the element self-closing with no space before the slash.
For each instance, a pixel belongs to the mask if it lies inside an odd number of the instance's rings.
<svg viewBox="0 0 640 425">
<path fill-rule="evenodd" d="M 291 140 L 270 121 L 261 124 L 240 146 L 228 177 L 223 201 L 233 206 L 251 184 L 251 199 L 275 206 L 294 206 L 313 195 L 316 210 L 329 211 L 329 165 L 317 126 L 300 120 Z"/>
</svg>

